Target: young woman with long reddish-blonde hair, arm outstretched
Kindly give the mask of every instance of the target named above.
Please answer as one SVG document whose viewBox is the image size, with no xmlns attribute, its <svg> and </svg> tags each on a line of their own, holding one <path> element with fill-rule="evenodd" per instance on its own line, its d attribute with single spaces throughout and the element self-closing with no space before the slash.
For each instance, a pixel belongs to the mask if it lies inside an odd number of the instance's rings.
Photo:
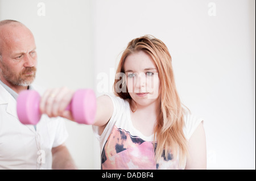
<svg viewBox="0 0 256 181">
<path fill-rule="evenodd" d="M 115 95 L 97 98 L 93 130 L 102 169 L 206 169 L 203 119 L 181 104 L 171 61 L 166 45 L 155 37 L 128 44 L 117 68 Z M 41 111 L 73 120 L 64 111 L 72 95 L 67 89 L 48 90 Z"/>
</svg>

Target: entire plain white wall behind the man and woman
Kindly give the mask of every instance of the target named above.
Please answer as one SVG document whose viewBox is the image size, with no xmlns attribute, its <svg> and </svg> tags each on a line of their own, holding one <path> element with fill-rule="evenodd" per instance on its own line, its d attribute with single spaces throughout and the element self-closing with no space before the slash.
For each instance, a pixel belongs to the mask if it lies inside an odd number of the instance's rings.
<svg viewBox="0 0 256 181">
<path fill-rule="evenodd" d="M 2 19 L 19 20 L 34 33 L 36 83 L 93 87 L 97 95 L 98 76 L 107 75 L 112 87 L 131 39 L 158 37 L 171 52 L 181 100 L 205 117 L 208 169 L 255 169 L 254 0 L 0 0 Z M 79 169 L 100 169 L 90 127 L 67 125 Z"/>
</svg>

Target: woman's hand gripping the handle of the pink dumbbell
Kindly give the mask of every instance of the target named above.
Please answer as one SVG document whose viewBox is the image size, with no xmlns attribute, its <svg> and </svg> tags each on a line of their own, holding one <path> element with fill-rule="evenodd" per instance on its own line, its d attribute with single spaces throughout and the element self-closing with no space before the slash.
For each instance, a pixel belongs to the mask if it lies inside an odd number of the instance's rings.
<svg viewBox="0 0 256 181">
<path fill-rule="evenodd" d="M 49 117 L 61 116 L 75 121 L 71 111 L 65 110 L 74 93 L 75 91 L 69 90 L 67 87 L 47 90 L 40 100 L 40 111 Z"/>
</svg>

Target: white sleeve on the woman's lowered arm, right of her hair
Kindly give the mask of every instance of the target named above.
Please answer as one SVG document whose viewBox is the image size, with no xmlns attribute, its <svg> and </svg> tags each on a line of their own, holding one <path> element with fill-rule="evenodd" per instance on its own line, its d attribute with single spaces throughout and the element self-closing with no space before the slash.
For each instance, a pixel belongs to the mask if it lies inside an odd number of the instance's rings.
<svg viewBox="0 0 256 181">
<path fill-rule="evenodd" d="M 184 123 L 185 125 L 183 131 L 185 137 L 187 138 L 187 140 L 189 140 L 199 124 L 204 123 L 204 119 L 203 117 L 187 113 L 186 115 L 184 115 Z"/>
</svg>

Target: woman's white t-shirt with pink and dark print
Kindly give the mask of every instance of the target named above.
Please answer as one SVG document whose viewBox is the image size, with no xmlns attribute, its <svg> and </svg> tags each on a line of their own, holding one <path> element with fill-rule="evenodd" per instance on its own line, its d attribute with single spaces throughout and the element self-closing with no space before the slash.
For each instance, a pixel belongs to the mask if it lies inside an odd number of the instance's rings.
<svg viewBox="0 0 256 181">
<path fill-rule="evenodd" d="M 184 169 L 178 166 L 179 160 L 168 154 L 155 162 L 154 134 L 144 136 L 133 127 L 130 117 L 130 105 L 127 100 L 109 95 L 114 111 L 103 133 L 98 134 L 98 127 L 93 131 L 100 141 L 101 169 Z M 203 121 L 191 114 L 184 115 L 183 132 L 187 140 Z"/>
</svg>

